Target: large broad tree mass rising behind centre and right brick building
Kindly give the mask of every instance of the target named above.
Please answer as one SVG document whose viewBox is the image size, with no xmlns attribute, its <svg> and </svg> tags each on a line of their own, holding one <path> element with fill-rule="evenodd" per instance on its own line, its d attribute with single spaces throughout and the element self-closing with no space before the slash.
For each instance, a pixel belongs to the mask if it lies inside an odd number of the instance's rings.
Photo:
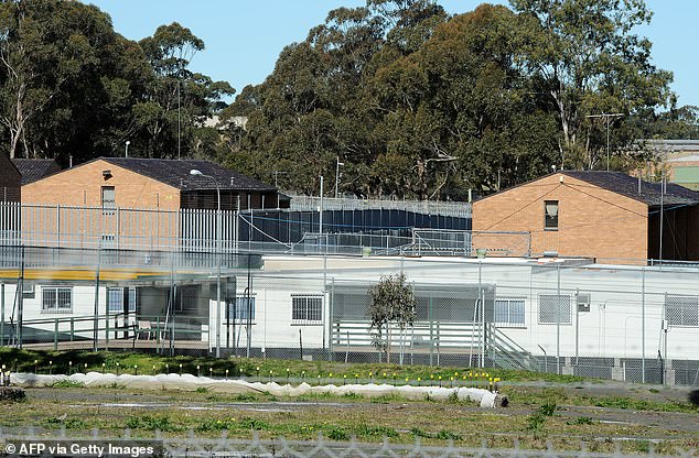
<svg viewBox="0 0 699 458">
<path fill-rule="evenodd" d="M 307 193 L 341 161 L 344 193 L 421 199 L 600 167 L 606 124 L 590 115 L 623 113 L 611 143 L 627 151 L 671 105 L 671 74 L 633 34 L 649 19 L 642 0 L 513 0 L 453 17 L 429 0 L 333 10 L 224 110 L 248 124 L 222 157 L 262 178 L 283 171 L 284 187 Z M 616 168 L 636 160 L 617 156 Z"/>
</svg>

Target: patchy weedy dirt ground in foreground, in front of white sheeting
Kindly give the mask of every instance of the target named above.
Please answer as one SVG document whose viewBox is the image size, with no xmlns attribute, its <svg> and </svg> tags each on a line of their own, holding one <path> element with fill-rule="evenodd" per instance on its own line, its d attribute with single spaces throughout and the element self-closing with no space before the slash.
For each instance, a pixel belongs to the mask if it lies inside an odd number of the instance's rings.
<svg viewBox="0 0 699 458">
<path fill-rule="evenodd" d="M 386 436 L 411 441 L 419 436 L 426 443 L 454 440 L 461 446 L 477 446 L 485 439 L 501 447 L 517 440 L 525 448 L 547 443 L 562 448 L 585 443 L 610 450 L 623 444 L 632 451 L 647 451 L 649 446 L 699 448 L 699 410 L 687 403 L 689 388 L 528 382 L 507 384 L 501 391 L 509 406 L 490 410 L 429 399 L 276 399 L 213 391 L 42 388 L 28 389 L 25 403 L 0 404 L 0 426 L 66 427 L 68 434 L 92 428 L 120 434 L 128 426 L 141 437 L 154 429 L 173 436 L 189 430 L 215 436 L 225 427 L 230 428 L 230 437 L 249 437 L 252 428 L 262 437 L 295 439 L 322 433 L 331 439 L 357 436 L 361 441 Z M 555 404 L 555 413 L 537 421 L 545 404 Z"/>
</svg>

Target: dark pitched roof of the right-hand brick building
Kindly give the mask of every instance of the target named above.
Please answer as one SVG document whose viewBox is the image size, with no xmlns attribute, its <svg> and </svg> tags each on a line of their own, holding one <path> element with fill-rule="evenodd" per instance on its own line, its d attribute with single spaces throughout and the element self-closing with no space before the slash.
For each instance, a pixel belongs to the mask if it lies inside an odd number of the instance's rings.
<svg viewBox="0 0 699 458">
<path fill-rule="evenodd" d="M 699 193 L 673 183 L 668 183 L 663 192 L 663 185 L 659 183 L 642 181 L 641 193 L 638 193 L 638 178 L 625 173 L 606 171 L 560 171 L 559 173 L 639 200 L 649 207 L 659 207 L 660 201 L 664 205 L 699 204 Z"/>
</svg>

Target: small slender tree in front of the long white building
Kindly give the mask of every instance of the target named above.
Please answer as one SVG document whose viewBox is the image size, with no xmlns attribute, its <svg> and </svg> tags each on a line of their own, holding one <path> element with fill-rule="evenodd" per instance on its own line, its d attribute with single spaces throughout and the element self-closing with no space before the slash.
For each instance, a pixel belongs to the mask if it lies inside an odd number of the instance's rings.
<svg viewBox="0 0 699 458">
<path fill-rule="evenodd" d="M 416 318 L 412 286 L 406 283 L 406 274 L 402 272 L 381 276 L 369 288 L 369 296 L 372 342 L 386 353 L 386 361 L 390 363 L 391 326 L 396 325 L 402 331 L 412 326 Z"/>
</svg>

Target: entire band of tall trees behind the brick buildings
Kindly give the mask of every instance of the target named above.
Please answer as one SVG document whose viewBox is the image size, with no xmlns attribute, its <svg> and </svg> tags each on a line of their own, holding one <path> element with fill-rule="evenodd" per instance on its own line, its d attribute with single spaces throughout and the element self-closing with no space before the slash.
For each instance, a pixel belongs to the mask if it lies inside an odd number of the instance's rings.
<svg viewBox="0 0 699 458">
<path fill-rule="evenodd" d="M 643 0 L 435 0 L 338 8 L 235 94 L 195 73 L 179 23 L 130 41 L 94 6 L 0 2 L 0 139 L 12 157 L 219 161 L 316 194 L 464 199 L 551 170 L 628 170 L 644 138 L 699 138 L 634 32 Z M 613 119 L 599 115 L 619 113 Z M 336 177 L 337 163 L 342 176 Z"/>
</svg>

